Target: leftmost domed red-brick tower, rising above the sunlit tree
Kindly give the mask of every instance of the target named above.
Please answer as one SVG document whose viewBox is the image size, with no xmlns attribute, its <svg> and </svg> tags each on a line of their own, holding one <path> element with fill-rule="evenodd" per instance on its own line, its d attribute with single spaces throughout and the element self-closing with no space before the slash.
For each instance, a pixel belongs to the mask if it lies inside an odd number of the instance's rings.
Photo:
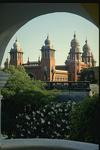
<svg viewBox="0 0 100 150">
<path fill-rule="evenodd" d="M 23 52 L 19 42 L 16 39 L 13 44 L 13 48 L 11 48 L 10 50 L 10 65 L 18 66 L 22 64 L 23 64 Z"/>
</svg>

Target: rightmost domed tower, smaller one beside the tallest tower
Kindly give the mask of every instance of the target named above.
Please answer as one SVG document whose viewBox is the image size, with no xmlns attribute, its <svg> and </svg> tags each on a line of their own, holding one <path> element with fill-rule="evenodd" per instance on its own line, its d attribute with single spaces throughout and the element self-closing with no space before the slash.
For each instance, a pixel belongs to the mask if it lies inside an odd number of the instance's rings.
<svg viewBox="0 0 100 150">
<path fill-rule="evenodd" d="M 96 61 L 93 58 L 93 54 L 87 43 L 87 39 L 85 41 L 85 45 L 83 46 L 82 61 L 86 64 L 87 67 L 96 65 Z"/>
</svg>

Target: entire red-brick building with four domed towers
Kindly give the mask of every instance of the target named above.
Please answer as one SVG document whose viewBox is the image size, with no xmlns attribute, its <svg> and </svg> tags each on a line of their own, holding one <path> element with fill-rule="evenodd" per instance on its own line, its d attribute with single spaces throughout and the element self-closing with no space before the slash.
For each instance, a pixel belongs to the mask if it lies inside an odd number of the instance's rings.
<svg viewBox="0 0 100 150">
<path fill-rule="evenodd" d="M 28 61 L 23 63 L 23 51 L 16 39 L 13 48 L 10 50 L 10 65 L 23 65 L 26 72 L 37 80 L 42 81 L 77 81 L 80 71 L 83 68 L 90 68 L 96 65 L 91 49 L 85 41 L 83 52 L 80 52 L 80 45 L 76 39 L 76 34 L 71 41 L 71 48 L 68 53 L 65 65 L 55 64 L 55 49 L 51 46 L 49 36 L 47 36 L 44 45 L 40 49 L 41 59 L 38 61 Z M 5 67 L 8 59 L 5 62 Z"/>
</svg>

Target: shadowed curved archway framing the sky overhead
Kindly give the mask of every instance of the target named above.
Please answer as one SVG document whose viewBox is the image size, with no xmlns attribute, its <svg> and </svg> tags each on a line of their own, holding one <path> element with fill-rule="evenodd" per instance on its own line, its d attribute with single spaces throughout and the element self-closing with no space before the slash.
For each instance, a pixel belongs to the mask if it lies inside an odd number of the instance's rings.
<svg viewBox="0 0 100 150">
<path fill-rule="evenodd" d="M 0 65 L 11 37 L 29 20 L 52 12 L 70 12 L 99 26 L 97 3 L 2 3 L 0 4 Z"/>
</svg>

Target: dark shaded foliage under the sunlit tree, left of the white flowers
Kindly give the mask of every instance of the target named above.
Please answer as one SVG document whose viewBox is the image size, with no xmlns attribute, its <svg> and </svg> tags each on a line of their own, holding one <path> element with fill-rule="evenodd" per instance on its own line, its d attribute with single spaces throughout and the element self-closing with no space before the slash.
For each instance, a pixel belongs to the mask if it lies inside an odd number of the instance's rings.
<svg viewBox="0 0 100 150">
<path fill-rule="evenodd" d="M 52 101 L 50 95 L 40 91 L 18 92 L 13 96 L 2 99 L 2 134 L 12 137 L 16 131 L 16 115 L 22 113 L 25 106 L 31 105 L 34 110 L 40 109 Z"/>
</svg>

